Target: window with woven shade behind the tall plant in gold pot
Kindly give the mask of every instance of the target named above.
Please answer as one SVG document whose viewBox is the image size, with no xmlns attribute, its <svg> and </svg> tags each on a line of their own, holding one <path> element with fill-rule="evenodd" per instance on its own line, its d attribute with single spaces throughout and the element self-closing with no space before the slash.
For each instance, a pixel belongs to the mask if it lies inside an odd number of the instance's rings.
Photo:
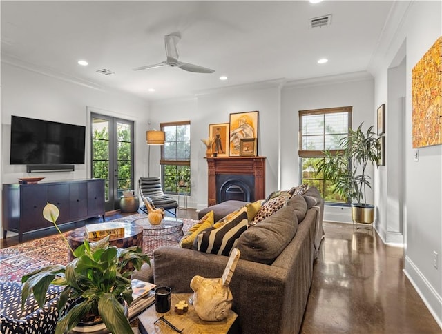
<svg viewBox="0 0 442 334">
<path fill-rule="evenodd" d="M 299 150 L 301 183 L 315 186 L 327 203 L 347 204 L 347 199 L 334 193 L 322 173 L 316 171 L 316 164 L 324 159 L 324 150 L 338 153 L 342 148 L 340 139 L 347 137 L 352 126 L 352 107 L 300 110 Z"/>
</svg>

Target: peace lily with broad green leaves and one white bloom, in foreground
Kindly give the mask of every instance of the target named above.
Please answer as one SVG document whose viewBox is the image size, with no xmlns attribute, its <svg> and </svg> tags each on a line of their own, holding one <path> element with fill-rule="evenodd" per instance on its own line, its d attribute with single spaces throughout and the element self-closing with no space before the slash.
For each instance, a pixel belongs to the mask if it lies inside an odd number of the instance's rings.
<svg viewBox="0 0 442 334">
<path fill-rule="evenodd" d="M 55 225 L 67 243 L 55 223 L 59 216 L 57 206 L 48 203 L 43 215 Z M 133 300 L 133 268 L 140 270 L 145 262 L 150 264 L 148 255 L 137 246 L 124 249 L 110 246 L 109 237 L 98 242 L 85 239 L 84 244 L 75 251 L 70 248 L 70 251 L 75 259 L 66 266 L 50 265 L 23 275 L 22 305 L 34 293 L 37 303 L 43 307 L 50 284 L 64 286 L 57 305 L 59 320 L 56 334 L 67 333 L 80 322 L 88 322 L 96 317 L 101 317 L 112 333 L 133 333 L 123 304 L 126 302 L 130 305 Z M 73 301 L 71 306 L 68 306 L 69 300 Z"/>
</svg>

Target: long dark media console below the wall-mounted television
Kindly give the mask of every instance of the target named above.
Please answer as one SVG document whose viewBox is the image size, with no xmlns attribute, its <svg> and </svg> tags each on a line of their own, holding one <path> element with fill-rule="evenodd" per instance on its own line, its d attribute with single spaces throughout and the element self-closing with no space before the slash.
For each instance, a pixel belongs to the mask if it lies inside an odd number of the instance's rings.
<svg viewBox="0 0 442 334">
<path fill-rule="evenodd" d="M 3 239 L 8 230 L 19 233 L 21 242 L 23 233 L 53 226 L 43 217 L 47 202 L 60 210 L 57 224 L 98 216 L 104 219 L 104 180 L 3 184 Z"/>
</svg>

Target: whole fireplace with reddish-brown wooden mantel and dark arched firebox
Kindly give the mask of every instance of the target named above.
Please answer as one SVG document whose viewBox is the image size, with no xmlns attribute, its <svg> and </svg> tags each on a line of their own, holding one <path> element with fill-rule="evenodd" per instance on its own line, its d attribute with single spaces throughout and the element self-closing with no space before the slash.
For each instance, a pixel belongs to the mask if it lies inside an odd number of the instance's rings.
<svg viewBox="0 0 442 334">
<path fill-rule="evenodd" d="M 265 198 L 265 157 L 209 157 L 209 206 Z"/>
</svg>

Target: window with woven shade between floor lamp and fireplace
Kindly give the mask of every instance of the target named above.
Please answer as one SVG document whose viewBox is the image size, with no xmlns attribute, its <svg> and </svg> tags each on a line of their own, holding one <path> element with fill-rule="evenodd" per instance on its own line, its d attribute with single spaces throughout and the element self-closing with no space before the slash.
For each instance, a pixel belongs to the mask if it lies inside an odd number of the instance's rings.
<svg viewBox="0 0 442 334">
<path fill-rule="evenodd" d="M 164 193 L 176 194 L 178 188 L 186 190 L 183 195 L 190 195 L 191 122 L 162 123 L 160 126 L 166 133 L 160 160 Z M 181 187 L 177 187 L 178 184 Z"/>
</svg>

